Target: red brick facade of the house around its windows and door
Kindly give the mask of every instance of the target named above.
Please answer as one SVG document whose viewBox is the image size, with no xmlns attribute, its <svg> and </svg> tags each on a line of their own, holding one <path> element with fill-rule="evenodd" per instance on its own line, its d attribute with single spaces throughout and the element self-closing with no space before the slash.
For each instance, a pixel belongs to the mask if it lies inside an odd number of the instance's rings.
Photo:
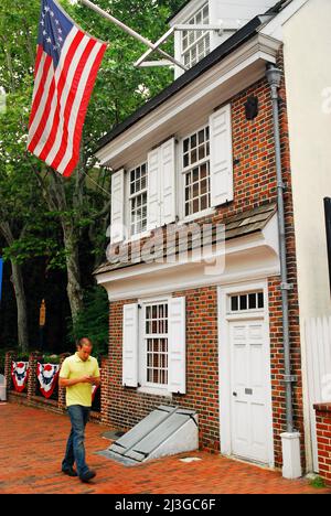
<svg viewBox="0 0 331 516">
<path fill-rule="evenodd" d="M 278 58 L 278 66 L 282 67 L 281 55 Z M 259 114 L 255 120 L 247 121 L 245 103 L 252 95 L 258 97 Z M 293 283 L 293 289 L 289 293 L 290 344 L 292 374 L 298 377 L 293 387 L 295 426 L 301 432 L 302 465 L 305 467 L 299 307 L 285 82 L 282 82 L 279 96 L 281 98 L 281 160 L 286 185 L 288 280 Z M 221 222 L 229 215 L 277 200 L 273 109 L 267 80 L 260 79 L 229 100 L 233 117 L 234 201 L 228 205 L 220 206 L 213 216 L 201 218 L 201 223 Z M 179 402 L 183 407 L 195 408 L 200 413 L 201 445 L 213 450 L 218 449 L 216 288 L 175 292 L 173 295 L 186 295 L 188 394 L 180 398 L 173 397 L 172 404 Z M 105 416 L 108 422 L 119 428 L 131 427 L 154 406 L 169 402 L 167 398 L 138 395 L 136 389 L 121 387 L 121 311 L 124 302 L 135 302 L 135 300 L 110 304 L 109 410 Z M 286 415 L 279 278 L 269 279 L 269 308 L 275 461 L 276 465 L 280 466 L 281 443 L 279 434 L 286 430 Z"/>
</svg>

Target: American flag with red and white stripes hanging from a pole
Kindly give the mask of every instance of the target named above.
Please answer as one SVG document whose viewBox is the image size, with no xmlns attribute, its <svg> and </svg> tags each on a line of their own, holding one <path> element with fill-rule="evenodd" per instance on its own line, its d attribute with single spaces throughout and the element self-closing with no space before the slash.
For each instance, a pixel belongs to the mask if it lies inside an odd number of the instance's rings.
<svg viewBox="0 0 331 516">
<path fill-rule="evenodd" d="M 79 161 L 87 105 L 106 43 L 42 0 L 28 150 L 68 176 Z"/>
</svg>

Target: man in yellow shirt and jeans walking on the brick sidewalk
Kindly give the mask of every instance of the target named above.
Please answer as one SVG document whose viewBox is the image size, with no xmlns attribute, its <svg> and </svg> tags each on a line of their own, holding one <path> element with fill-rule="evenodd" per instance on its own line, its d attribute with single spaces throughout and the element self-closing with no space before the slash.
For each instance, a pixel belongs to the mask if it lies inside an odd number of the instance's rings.
<svg viewBox="0 0 331 516">
<path fill-rule="evenodd" d="M 100 385 L 100 372 L 97 359 L 90 356 L 92 348 L 89 338 L 81 338 L 75 355 L 63 362 L 58 378 L 60 387 L 66 388 L 66 406 L 72 423 L 62 471 L 70 476 L 78 474 L 82 482 L 88 482 L 96 475 L 85 462 L 84 445 L 85 427 L 92 406 L 92 386 Z M 73 467 L 74 462 L 77 473 Z"/>
</svg>

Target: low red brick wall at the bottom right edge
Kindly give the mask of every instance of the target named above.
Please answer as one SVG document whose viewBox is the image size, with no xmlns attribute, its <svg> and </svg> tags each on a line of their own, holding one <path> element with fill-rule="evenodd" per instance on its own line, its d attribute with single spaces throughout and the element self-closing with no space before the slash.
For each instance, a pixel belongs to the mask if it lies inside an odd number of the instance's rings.
<svg viewBox="0 0 331 516">
<path fill-rule="evenodd" d="M 319 474 L 331 485 L 331 404 L 314 405 Z"/>
</svg>

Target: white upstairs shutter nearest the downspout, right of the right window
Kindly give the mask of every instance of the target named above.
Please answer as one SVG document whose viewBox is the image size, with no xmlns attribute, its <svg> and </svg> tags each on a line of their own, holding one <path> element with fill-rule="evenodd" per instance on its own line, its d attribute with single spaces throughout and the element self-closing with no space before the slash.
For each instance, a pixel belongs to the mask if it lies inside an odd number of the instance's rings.
<svg viewBox="0 0 331 516">
<path fill-rule="evenodd" d="M 233 201 L 231 105 L 210 117 L 211 206 Z"/>
</svg>

